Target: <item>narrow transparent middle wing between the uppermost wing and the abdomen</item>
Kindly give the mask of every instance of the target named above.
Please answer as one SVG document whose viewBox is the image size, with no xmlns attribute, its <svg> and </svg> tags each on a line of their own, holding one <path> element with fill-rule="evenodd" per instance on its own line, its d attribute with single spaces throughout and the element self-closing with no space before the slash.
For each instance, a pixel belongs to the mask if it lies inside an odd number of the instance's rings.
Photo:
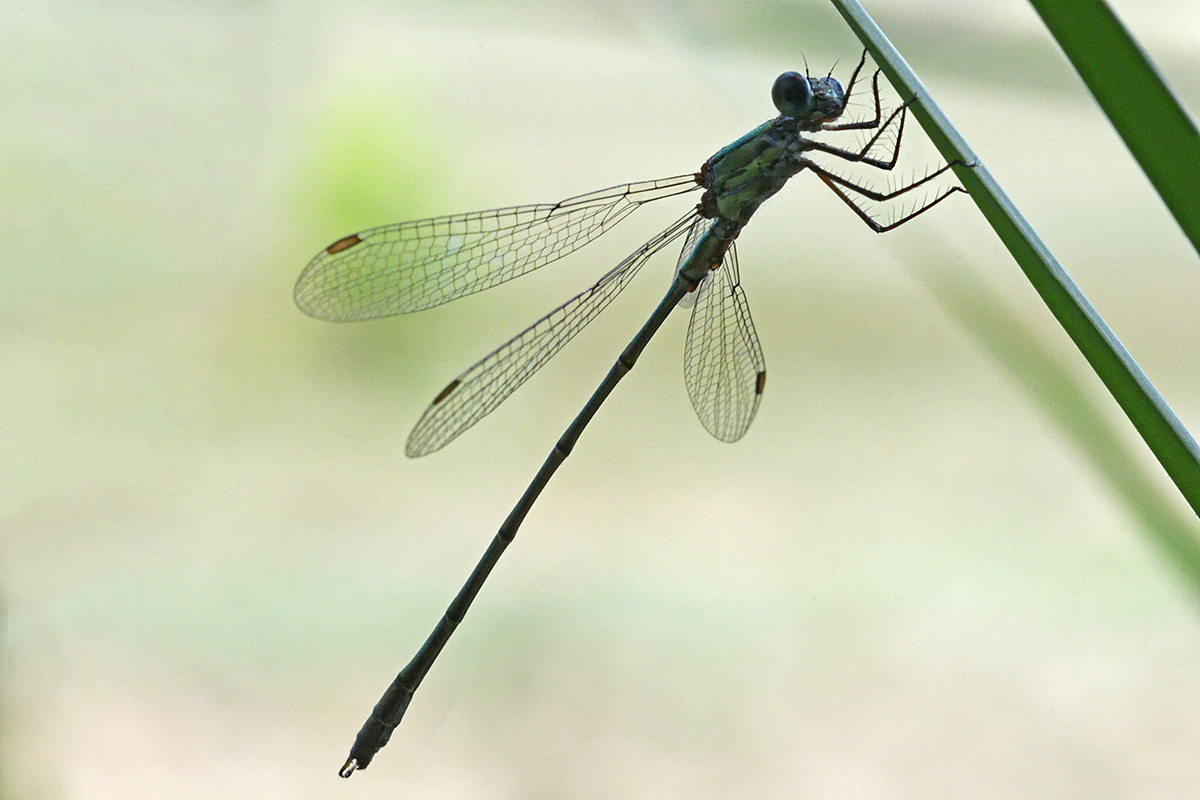
<svg viewBox="0 0 1200 800">
<path fill-rule="evenodd" d="M 418 420 L 408 435 L 404 453 L 416 458 L 440 450 L 487 416 L 595 319 L 650 255 L 688 230 L 695 215 L 691 211 L 680 217 L 630 253 L 590 288 L 554 308 L 451 380 Z"/>
</svg>

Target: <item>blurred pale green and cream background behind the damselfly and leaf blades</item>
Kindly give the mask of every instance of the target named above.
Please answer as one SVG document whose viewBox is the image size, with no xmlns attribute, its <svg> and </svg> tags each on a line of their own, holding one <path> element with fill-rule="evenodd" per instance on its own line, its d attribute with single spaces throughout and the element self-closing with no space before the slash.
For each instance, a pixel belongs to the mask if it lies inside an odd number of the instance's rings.
<svg viewBox="0 0 1200 800">
<path fill-rule="evenodd" d="M 1028 6 L 870 5 L 1200 428 L 1195 253 Z M 1194 114 L 1196 5 L 1115 5 Z M 673 259 L 445 451 L 409 427 L 691 200 L 410 318 L 307 319 L 300 269 L 694 170 L 859 52 L 818 0 L 6 5 L 0 795 L 1200 793 L 1200 619 L 1147 535 L 1194 517 L 966 197 L 876 236 L 812 180 L 739 241 L 748 437 L 700 427 L 670 320 L 335 775 Z"/>
</svg>

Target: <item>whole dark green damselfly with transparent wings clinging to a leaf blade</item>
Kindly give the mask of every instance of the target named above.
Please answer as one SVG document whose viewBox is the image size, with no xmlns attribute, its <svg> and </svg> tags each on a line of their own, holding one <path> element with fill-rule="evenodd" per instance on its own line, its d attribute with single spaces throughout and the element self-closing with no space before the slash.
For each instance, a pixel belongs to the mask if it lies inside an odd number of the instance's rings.
<svg viewBox="0 0 1200 800">
<path fill-rule="evenodd" d="M 444 447 L 499 405 L 604 311 L 652 255 L 683 239 L 683 251 L 666 296 L 554 445 L 428 639 L 374 706 L 340 771 L 343 777 L 366 769 L 388 742 L 413 692 L 462 621 L 551 475 L 571 452 L 617 383 L 634 367 L 662 321 L 690 293 L 695 302 L 684 349 L 688 395 L 700 421 L 714 437 L 737 441 L 745 434 L 762 399 L 767 368 L 738 277 L 733 241 L 767 198 L 793 175 L 808 170 L 872 230 L 882 233 L 929 210 L 953 192 L 962 191 L 953 186 L 929 192 L 896 218 L 880 222 L 872 217 L 866 201 L 887 201 L 922 186 L 932 186 L 929 182 L 950 164 L 898 188 L 877 192 L 812 160 L 814 156 L 829 156 L 881 170 L 895 167 L 907 109 L 914 98 L 884 119 L 876 71 L 871 79 L 874 118 L 836 121 L 846 109 L 865 61 L 864 53 L 845 90 L 830 76 L 812 78 L 796 72 L 779 76 L 772 88 L 779 116 L 719 150 L 697 173 L 624 184 L 554 204 L 511 206 L 372 228 L 338 239 L 305 267 L 296 282 L 295 301 L 312 317 L 347 321 L 403 314 L 481 291 L 554 261 L 647 203 L 701 192 L 696 206 L 666 230 L 630 253 L 588 289 L 451 380 L 413 428 L 404 447 L 409 456 L 425 456 Z M 857 149 L 838 148 L 804 136 L 872 130 L 875 133 Z M 889 156 L 872 155 L 883 145 L 890 146 Z"/>
</svg>

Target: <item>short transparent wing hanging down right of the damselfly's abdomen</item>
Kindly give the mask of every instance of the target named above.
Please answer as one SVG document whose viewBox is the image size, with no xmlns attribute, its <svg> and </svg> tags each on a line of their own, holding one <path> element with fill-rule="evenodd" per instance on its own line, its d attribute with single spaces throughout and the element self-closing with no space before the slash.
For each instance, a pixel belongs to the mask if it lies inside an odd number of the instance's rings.
<svg viewBox="0 0 1200 800">
<path fill-rule="evenodd" d="M 688 396 L 706 431 L 721 441 L 737 441 L 758 410 L 767 362 L 732 243 L 720 267 L 708 273 L 695 294 L 683 361 Z"/>
</svg>

